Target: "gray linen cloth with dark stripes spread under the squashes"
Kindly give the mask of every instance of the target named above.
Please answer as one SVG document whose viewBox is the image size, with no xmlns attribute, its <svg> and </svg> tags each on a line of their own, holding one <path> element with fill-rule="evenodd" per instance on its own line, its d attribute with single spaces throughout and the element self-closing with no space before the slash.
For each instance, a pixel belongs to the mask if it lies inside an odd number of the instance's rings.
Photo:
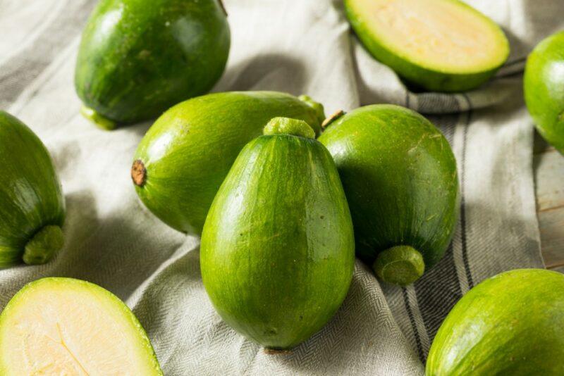
<svg viewBox="0 0 564 376">
<path fill-rule="evenodd" d="M 422 374 L 434 334 L 462 294 L 503 270 L 543 266 L 522 69 L 534 44 L 564 28 L 564 2 L 468 2 L 503 26 L 512 53 L 489 84 L 447 95 L 409 92 L 357 42 L 341 1 L 225 1 L 232 48 L 214 91 L 309 94 L 328 114 L 376 103 L 422 112 L 453 146 L 463 196 L 452 246 L 419 282 L 380 284 L 357 262 L 333 320 L 291 355 L 269 356 L 215 313 L 200 278 L 199 240 L 138 201 L 129 170 L 150 124 L 105 132 L 78 113 L 73 71 L 95 1 L 0 1 L 0 108 L 47 144 L 68 205 L 64 249 L 47 265 L 0 270 L 0 307 L 26 282 L 77 277 L 133 308 L 165 375 Z"/>
</svg>

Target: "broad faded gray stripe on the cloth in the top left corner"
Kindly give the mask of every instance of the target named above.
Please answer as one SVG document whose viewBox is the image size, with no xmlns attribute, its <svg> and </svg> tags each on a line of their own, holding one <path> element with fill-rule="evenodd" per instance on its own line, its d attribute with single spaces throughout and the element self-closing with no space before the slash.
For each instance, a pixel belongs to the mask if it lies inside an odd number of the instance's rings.
<svg viewBox="0 0 564 376">
<path fill-rule="evenodd" d="M 95 1 L 67 0 L 49 26 L 25 49 L 0 65 L 0 107 L 7 107 L 84 27 Z"/>
</svg>

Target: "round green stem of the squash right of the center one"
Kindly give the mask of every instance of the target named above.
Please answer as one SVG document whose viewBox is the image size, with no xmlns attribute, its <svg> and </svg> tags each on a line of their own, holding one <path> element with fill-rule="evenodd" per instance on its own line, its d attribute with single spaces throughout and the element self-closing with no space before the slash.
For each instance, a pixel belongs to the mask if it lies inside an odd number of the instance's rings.
<svg viewBox="0 0 564 376">
<path fill-rule="evenodd" d="M 372 268 L 384 282 L 407 286 L 423 275 L 425 263 L 412 246 L 393 246 L 379 253 Z"/>
</svg>

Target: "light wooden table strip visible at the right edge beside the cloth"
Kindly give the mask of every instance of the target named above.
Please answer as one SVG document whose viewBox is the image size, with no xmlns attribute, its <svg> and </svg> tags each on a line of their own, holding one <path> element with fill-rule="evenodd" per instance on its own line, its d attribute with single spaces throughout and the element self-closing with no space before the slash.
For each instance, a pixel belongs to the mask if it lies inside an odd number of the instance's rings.
<svg viewBox="0 0 564 376">
<path fill-rule="evenodd" d="M 537 133 L 533 153 L 542 256 L 546 268 L 564 272 L 564 156 Z"/>
</svg>

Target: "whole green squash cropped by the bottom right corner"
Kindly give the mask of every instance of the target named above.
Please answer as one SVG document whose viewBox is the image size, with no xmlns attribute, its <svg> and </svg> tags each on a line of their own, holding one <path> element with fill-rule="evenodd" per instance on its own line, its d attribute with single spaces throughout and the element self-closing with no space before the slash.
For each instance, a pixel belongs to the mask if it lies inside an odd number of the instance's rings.
<svg viewBox="0 0 564 376">
<path fill-rule="evenodd" d="M 564 375 L 564 275 L 503 272 L 450 311 L 427 358 L 427 376 Z"/>
</svg>

